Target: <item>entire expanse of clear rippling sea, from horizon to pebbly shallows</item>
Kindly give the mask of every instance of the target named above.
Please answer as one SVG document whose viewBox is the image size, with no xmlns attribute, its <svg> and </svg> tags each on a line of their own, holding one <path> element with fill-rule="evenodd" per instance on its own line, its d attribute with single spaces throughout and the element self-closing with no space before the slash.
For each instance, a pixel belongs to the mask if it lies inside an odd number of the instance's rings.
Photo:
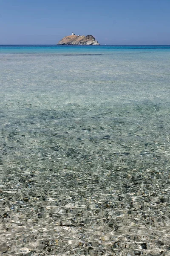
<svg viewBox="0 0 170 256">
<path fill-rule="evenodd" d="M 0 53 L 3 255 L 170 255 L 170 48 Z"/>
</svg>

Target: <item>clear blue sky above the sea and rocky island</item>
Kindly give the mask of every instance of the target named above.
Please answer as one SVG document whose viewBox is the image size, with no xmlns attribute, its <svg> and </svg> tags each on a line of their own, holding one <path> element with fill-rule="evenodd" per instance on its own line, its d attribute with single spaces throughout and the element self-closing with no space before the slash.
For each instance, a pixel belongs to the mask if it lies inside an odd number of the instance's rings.
<svg viewBox="0 0 170 256">
<path fill-rule="evenodd" d="M 0 0 L 0 44 L 170 44 L 170 0 Z"/>
</svg>

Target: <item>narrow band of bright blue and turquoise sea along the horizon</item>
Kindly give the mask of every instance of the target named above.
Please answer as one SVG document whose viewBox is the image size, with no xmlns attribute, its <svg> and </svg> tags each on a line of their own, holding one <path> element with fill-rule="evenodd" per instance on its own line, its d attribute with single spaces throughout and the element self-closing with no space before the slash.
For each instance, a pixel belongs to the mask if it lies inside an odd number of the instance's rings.
<svg viewBox="0 0 170 256">
<path fill-rule="evenodd" d="M 113 54 L 133 51 L 169 50 L 170 45 L 0 45 L 0 53 Z"/>
</svg>

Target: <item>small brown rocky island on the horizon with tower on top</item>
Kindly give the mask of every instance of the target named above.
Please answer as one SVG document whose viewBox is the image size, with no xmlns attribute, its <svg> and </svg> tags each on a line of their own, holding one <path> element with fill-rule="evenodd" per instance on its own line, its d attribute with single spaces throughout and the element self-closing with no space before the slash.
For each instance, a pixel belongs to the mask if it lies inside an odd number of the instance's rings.
<svg viewBox="0 0 170 256">
<path fill-rule="evenodd" d="M 58 44 L 76 44 L 76 45 L 99 45 L 98 41 L 92 35 L 72 35 L 65 36 Z"/>
</svg>

